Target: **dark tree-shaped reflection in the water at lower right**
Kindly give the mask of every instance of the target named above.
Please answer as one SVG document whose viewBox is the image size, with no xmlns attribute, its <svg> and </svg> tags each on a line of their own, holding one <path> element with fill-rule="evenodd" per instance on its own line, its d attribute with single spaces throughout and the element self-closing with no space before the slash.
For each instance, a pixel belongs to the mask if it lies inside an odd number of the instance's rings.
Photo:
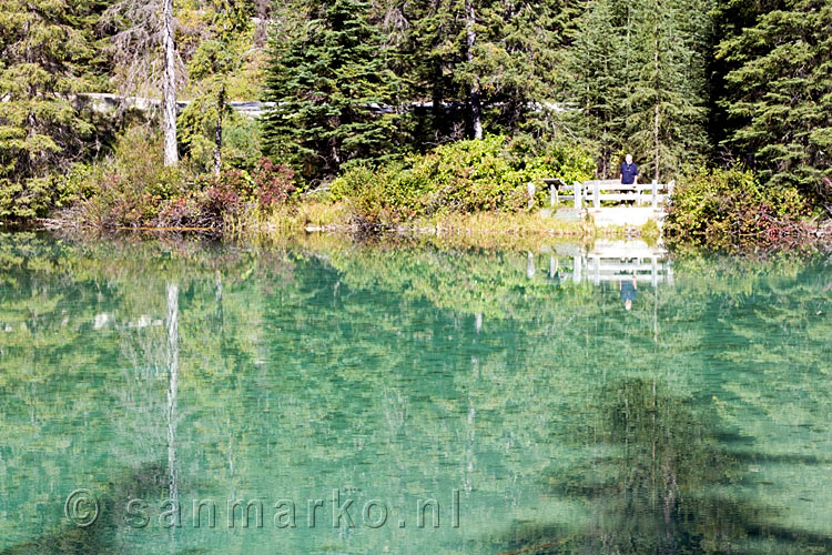
<svg viewBox="0 0 832 555">
<path fill-rule="evenodd" d="M 737 498 L 740 460 L 707 406 L 661 384 L 626 379 L 605 385 L 587 443 L 591 465 L 551 476 L 554 492 L 587 503 L 584 529 L 516 525 L 506 553 L 829 553 L 832 538 L 775 525 L 777 512 Z"/>
</svg>

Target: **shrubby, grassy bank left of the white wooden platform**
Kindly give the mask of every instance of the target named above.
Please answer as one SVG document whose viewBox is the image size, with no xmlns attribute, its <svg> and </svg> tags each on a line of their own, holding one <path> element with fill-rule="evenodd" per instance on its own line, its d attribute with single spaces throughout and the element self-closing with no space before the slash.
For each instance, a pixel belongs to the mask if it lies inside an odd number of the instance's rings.
<svg viewBox="0 0 832 555">
<path fill-rule="evenodd" d="M 78 164 L 57 183 L 55 226 L 93 230 L 192 229 L 285 236 L 307 231 L 424 233 L 437 236 L 582 236 L 587 222 L 544 215 L 542 186 L 529 206 L 527 184 L 545 176 L 587 179 L 592 162 L 565 144 L 506 137 L 459 141 L 386 164 L 353 165 L 318 184 L 261 158 L 219 174 L 164 168 L 160 138 L 125 133 L 111 157 Z M 503 238 L 503 239 L 499 239 Z M 477 239 L 475 242 L 479 242 Z"/>
</svg>

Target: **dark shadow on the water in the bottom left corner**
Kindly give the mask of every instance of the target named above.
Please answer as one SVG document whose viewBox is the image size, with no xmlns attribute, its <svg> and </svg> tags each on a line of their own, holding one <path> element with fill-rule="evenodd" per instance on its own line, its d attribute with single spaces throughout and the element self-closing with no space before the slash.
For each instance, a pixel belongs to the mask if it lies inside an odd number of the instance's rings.
<svg viewBox="0 0 832 555">
<path fill-rule="evenodd" d="M 98 495 L 99 517 L 87 527 L 62 518 L 57 532 L 30 542 L 12 545 L 0 555 L 104 555 L 121 552 L 119 528 L 124 527 L 125 507 L 132 498 L 163 498 L 168 492 L 168 470 L 163 463 L 151 463 L 130 470 L 122 480 L 106 484 Z M 61 515 L 63 516 L 63 515 Z"/>
</svg>

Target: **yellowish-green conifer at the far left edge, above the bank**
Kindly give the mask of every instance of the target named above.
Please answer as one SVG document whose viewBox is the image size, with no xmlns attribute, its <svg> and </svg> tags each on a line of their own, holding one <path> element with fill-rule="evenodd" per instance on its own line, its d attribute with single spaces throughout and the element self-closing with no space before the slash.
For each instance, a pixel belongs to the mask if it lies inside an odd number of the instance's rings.
<svg viewBox="0 0 832 555">
<path fill-rule="evenodd" d="M 49 175 L 94 131 L 74 93 L 95 56 L 91 2 L 0 0 L 0 218 L 42 215 Z"/>
</svg>

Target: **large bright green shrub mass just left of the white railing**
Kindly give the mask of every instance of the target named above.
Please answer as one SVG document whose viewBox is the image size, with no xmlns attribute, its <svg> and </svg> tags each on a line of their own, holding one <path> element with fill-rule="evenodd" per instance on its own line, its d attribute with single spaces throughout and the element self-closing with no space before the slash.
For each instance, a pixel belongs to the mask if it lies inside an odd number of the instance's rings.
<svg viewBox="0 0 832 555">
<path fill-rule="evenodd" d="M 491 135 L 442 145 L 375 171 L 353 168 L 333 182 L 331 195 L 348 200 L 358 220 L 385 225 L 443 213 L 525 210 L 529 182 L 587 179 L 591 171 L 591 159 L 578 149 L 536 152 L 522 141 Z M 541 203 L 544 188 L 537 189 Z"/>
</svg>

